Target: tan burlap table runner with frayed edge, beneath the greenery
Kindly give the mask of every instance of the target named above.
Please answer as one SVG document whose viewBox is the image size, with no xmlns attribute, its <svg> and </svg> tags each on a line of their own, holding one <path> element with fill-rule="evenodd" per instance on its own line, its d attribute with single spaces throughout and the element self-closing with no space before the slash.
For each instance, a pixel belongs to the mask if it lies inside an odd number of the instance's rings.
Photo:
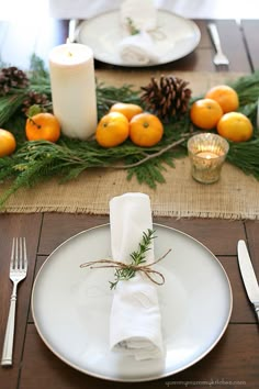
<svg viewBox="0 0 259 389">
<path fill-rule="evenodd" d="M 98 79 L 108 85 L 123 82 L 144 86 L 153 70 L 101 71 Z M 164 74 L 168 74 L 165 71 Z M 239 74 L 178 73 L 190 81 L 193 95 L 221 82 L 239 77 Z M 155 74 L 159 76 L 159 74 Z M 151 199 L 154 215 L 203 216 L 223 219 L 259 219 L 259 182 L 240 169 L 225 164 L 218 182 L 201 185 L 190 175 L 189 158 L 176 160 L 176 168 L 167 167 L 166 184 L 156 190 L 139 185 L 136 179 L 126 180 L 126 171 L 115 169 L 91 169 L 76 180 L 59 185 L 56 178 L 31 189 L 20 189 L 5 203 L 1 212 L 72 212 L 108 214 L 109 200 L 127 191 L 142 191 Z M 8 186 L 1 185 L 0 196 Z"/>
</svg>

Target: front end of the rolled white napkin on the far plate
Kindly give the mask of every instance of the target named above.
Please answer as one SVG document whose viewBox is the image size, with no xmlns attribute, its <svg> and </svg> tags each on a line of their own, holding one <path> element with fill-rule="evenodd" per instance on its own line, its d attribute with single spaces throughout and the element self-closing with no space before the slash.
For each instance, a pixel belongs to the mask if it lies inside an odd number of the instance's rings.
<svg viewBox="0 0 259 389">
<path fill-rule="evenodd" d="M 119 54 L 127 65 L 148 65 L 159 62 L 153 38 L 145 31 L 123 38 L 119 43 Z"/>
</svg>

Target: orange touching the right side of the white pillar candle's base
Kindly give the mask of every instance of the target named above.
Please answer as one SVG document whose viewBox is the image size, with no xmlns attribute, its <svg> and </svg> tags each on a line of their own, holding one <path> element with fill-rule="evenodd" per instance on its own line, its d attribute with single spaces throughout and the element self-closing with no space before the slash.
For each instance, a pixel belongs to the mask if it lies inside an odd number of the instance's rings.
<svg viewBox="0 0 259 389">
<path fill-rule="evenodd" d="M 121 112 L 109 112 L 98 123 L 95 140 L 102 147 L 114 147 L 128 137 L 130 124 Z"/>
</svg>

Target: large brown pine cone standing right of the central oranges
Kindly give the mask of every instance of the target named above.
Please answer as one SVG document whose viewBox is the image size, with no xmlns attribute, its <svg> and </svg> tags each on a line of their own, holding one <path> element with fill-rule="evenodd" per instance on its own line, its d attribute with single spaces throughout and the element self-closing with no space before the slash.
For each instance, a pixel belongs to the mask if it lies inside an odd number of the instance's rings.
<svg viewBox="0 0 259 389">
<path fill-rule="evenodd" d="M 188 84 L 173 76 L 161 76 L 159 81 L 151 77 L 149 85 L 142 87 L 144 93 L 140 99 L 146 109 L 160 119 L 181 116 L 188 111 L 192 93 L 191 89 L 187 88 Z"/>
</svg>

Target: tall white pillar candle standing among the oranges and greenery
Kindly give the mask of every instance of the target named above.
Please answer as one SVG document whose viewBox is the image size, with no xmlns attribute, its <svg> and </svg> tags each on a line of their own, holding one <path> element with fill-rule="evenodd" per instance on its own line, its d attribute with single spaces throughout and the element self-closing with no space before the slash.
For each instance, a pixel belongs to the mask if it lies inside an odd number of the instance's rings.
<svg viewBox="0 0 259 389">
<path fill-rule="evenodd" d="M 78 43 L 49 54 L 53 111 L 64 135 L 87 140 L 97 129 L 97 95 L 92 49 Z"/>
</svg>

